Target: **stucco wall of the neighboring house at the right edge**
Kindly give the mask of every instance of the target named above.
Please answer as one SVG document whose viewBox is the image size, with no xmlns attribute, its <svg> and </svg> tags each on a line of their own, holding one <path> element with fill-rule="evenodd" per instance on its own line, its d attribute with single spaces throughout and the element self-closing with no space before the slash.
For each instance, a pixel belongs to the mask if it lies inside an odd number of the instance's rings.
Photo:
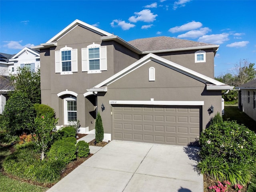
<svg viewBox="0 0 256 192">
<path fill-rule="evenodd" d="M 250 94 L 248 95 L 248 91 Z M 242 111 L 245 112 L 250 118 L 256 121 L 256 108 L 253 108 L 253 92 L 256 89 L 242 89 L 241 90 L 241 103 Z M 248 97 L 250 97 L 250 103 L 248 103 Z"/>
</svg>

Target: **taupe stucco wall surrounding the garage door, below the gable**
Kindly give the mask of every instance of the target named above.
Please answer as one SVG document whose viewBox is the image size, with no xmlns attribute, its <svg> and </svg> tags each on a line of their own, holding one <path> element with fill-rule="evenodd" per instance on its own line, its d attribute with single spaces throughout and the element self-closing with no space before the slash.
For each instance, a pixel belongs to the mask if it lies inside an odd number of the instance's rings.
<svg viewBox="0 0 256 192">
<path fill-rule="evenodd" d="M 156 70 L 155 81 L 148 81 L 150 67 Z M 105 133 L 112 130 L 109 100 L 204 101 L 202 129 L 206 128 L 211 117 L 222 112 L 221 91 L 207 91 L 204 83 L 153 61 L 108 85 L 108 92 L 104 96 L 101 94 L 98 94 L 98 103 L 105 106 L 105 110 L 100 112 Z M 211 105 L 214 113 L 209 115 L 207 110 Z"/>
</svg>

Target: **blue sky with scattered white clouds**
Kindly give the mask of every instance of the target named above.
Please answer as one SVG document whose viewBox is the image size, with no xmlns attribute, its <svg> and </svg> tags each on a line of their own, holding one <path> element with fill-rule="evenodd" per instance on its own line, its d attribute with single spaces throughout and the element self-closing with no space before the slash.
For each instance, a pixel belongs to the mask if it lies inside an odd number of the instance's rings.
<svg viewBox="0 0 256 192">
<path fill-rule="evenodd" d="M 215 76 L 256 64 L 256 0 L 0 0 L 0 52 L 45 43 L 76 19 L 130 41 L 170 36 L 220 45 Z"/>
</svg>

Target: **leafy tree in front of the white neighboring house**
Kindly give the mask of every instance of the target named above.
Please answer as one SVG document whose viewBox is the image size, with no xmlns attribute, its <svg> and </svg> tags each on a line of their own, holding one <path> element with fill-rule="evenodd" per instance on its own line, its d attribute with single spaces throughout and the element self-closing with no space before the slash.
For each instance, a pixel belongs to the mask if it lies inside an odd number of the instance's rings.
<svg viewBox="0 0 256 192">
<path fill-rule="evenodd" d="M 14 89 L 27 93 L 32 104 L 41 103 L 40 69 L 30 72 L 26 67 L 18 68 L 11 80 Z"/>
</svg>

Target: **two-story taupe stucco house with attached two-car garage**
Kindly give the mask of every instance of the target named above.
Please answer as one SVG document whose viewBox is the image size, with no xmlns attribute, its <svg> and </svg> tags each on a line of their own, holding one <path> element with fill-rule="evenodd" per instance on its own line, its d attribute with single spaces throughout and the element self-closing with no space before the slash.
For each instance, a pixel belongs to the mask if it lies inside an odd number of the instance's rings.
<svg viewBox="0 0 256 192">
<path fill-rule="evenodd" d="M 80 120 L 81 132 L 93 132 L 100 112 L 104 140 L 186 145 L 222 111 L 221 90 L 233 88 L 213 79 L 218 47 L 165 36 L 126 42 L 75 20 L 32 48 L 42 103 L 59 127 Z"/>
</svg>

